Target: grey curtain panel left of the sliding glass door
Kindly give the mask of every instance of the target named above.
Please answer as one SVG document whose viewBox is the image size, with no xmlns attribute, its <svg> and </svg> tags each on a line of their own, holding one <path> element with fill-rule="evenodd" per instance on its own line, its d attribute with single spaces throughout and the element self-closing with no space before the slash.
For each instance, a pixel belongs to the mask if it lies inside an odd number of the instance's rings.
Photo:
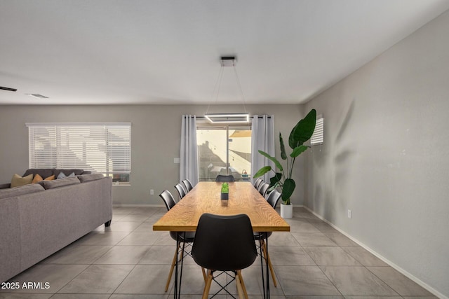
<svg viewBox="0 0 449 299">
<path fill-rule="evenodd" d="M 182 116 L 180 148 L 180 181 L 198 183 L 198 147 L 196 146 L 196 116 Z"/>
</svg>

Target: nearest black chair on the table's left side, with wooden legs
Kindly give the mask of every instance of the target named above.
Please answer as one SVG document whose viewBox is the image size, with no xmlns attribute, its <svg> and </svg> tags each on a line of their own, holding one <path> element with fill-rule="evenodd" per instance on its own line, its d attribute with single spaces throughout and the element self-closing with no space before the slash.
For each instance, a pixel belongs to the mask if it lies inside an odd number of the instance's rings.
<svg viewBox="0 0 449 299">
<path fill-rule="evenodd" d="M 167 211 L 170 211 L 171 208 L 175 207 L 175 199 L 173 195 L 171 195 L 170 191 L 163 190 L 159 197 L 162 198 L 163 203 L 166 204 Z M 173 256 L 173 260 L 171 262 L 170 272 L 168 273 L 168 279 L 166 284 L 166 291 L 168 291 L 168 286 L 170 285 L 171 276 L 173 274 L 173 269 L 175 268 L 176 261 L 178 259 L 178 254 L 181 249 L 180 260 L 185 257 L 185 252 L 182 250 L 182 243 L 192 244 L 194 242 L 195 232 L 170 232 L 170 237 L 177 241 L 175 256 Z M 189 253 L 187 253 L 189 254 Z M 203 276 L 206 277 L 206 274 L 203 270 Z"/>
</svg>

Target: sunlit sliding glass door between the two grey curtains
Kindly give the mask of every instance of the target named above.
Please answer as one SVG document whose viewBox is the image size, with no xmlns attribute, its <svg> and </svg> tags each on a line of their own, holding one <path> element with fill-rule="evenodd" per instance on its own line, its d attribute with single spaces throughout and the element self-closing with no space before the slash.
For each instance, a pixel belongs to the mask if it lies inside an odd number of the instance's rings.
<svg viewBox="0 0 449 299">
<path fill-rule="evenodd" d="M 216 127 L 201 124 L 196 129 L 199 181 L 215 181 L 218 174 L 232 174 L 236 181 L 249 181 L 251 127 Z"/>
</svg>

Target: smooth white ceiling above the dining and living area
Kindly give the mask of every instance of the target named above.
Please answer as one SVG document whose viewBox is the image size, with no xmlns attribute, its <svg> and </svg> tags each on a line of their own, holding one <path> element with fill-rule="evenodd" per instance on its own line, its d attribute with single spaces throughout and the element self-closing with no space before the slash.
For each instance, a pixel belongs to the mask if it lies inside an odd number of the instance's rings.
<svg viewBox="0 0 449 299">
<path fill-rule="evenodd" d="M 297 104 L 449 0 L 0 0 L 0 104 Z M 49 99 L 25 94 L 38 93 Z"/>
</svg>

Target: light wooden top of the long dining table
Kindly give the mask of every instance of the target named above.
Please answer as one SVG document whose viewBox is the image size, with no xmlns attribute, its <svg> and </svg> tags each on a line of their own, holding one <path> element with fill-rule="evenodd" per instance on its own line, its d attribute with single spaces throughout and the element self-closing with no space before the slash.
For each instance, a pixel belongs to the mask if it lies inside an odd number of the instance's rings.
<svg viewBox="0 0 449 299">
<path fill-rule="evenodd" d="M 195 231 L 203 213 L 247 214 L 255 232 L 290 231 L 290 225 L 249 182 L 229 183 L 229 200 L 220 200 L 222 183 L 199 182 L 175 207 L 153 225 L 153 230 Z"/>
</svg>

